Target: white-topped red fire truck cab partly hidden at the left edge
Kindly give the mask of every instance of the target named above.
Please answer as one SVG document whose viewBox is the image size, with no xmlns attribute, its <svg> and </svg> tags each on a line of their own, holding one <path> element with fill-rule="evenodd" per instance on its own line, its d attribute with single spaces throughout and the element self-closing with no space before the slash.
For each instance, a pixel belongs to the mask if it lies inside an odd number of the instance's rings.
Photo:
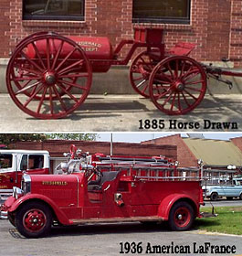
<svg viewBox="0 0 242 256">
<path fill-rule="evenodd" d="M 49 154 L 43 150 L 0 150 L 0 195 L 20 187 L 23 173 L 49 174 Z"/>
</svg>

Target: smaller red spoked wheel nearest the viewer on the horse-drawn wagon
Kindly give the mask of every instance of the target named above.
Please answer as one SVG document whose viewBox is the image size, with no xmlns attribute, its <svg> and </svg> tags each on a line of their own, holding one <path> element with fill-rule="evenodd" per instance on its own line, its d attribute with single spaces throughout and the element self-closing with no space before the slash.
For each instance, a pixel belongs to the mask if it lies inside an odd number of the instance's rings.
<svg viewBox="0 0 242 256">
<path fill-rule="evenodd" d="M 150 96 L 160 111 L 169 115 L 185 114 L 203 101 L 206 84 L 205 70 L 195 59 L 168 57 L 153 69 Z"/>
</svg>

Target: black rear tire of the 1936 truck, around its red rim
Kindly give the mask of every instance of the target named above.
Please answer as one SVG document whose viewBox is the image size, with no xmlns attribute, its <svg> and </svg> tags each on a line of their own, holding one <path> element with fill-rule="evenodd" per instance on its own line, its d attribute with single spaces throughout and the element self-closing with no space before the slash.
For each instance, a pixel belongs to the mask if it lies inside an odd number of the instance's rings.
<svg viewBox="0 0 242 256">
<path fill-rule="evenodd" d="M 190 221 L 189 223 L 185 226 L 185 227 L 179 227 L 176 226 L 174 223 L 174 213 L 177 210 L 177 208 L 187 208 L 190 211 Z M 194 208 L 187 202 L 184 201 L 180 201 L 174 204 L 173 208 L 171 208 L 170 213 L 169 213 L 169 219 L 168 219 L 168 224 L 170 229 L 172 229 L 173 231 L 184 231 L 187 229 L 191 229 L 191 227 L 193 226 L 195 221 L 195 210 Z"/>
</svg>

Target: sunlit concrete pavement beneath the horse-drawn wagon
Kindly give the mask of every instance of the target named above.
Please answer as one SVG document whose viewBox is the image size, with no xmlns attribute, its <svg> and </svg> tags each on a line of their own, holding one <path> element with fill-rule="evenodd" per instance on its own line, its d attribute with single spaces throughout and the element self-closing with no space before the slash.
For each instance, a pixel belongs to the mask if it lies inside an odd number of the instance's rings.
<svg viewBox="0 0 242 256">
<path fill-rule="evenodd" d="M 1 132 L 239 132 L 242 130 L 242 95 L 205 95 L 204 101 L 183 116 L 159 112 L 150 100 L 137 95 L 89 95 L 79 110 L 61 120 L 37 120 L 16 107 L 8 94 L 0 94 Z M 163 127 L 145 126 L 156 120 Z M 207 122 L 205 123 L 205 120 Z M 174 124 L 175 123 L 175 124 Z M 185 124 L 186 123 L 186 124 Z M 191 123 L 191 125 L 187 125 Z M 198 123 L 198 126 L 195 126 Z M 212 125 L 214 123 L 214 125 Z M 221 123 L 231 123 L 224 127 Z M 236 125 L 232 126 L 232 123 Z M 209 124 L 209 125 L 208 125 Z M 222 125 L 222 126 L 221 126 Z M 142 128 L 142 129 L 141 129 Z M 237 128 L 237 129 L 232 129 Z"/>
</svg>

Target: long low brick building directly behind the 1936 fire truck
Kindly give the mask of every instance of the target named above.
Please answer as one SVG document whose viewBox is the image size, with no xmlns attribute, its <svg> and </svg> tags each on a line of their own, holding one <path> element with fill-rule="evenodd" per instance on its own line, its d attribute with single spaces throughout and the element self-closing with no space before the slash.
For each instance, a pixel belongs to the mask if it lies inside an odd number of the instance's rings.
<svg viewBox="0 0 242 256">
<path fill-rule="evenodd" d="M 64 140 L 47 140 L 44 142 L 18 142 L 11 144 L 9 148 L 23 150 L 47 150 L 51 157 L 51 169 L 63 161 L 63 153 L 69 152 L 71 144 L 75 144 L 83 152 L 89 154 L 102 153 L 110 155 L 110 143 L 107 142 L 87 142 L 87 141 L 64 141 Z M 177 150 L 175 145 L 170 144 L 129 144 L 113 143 L 113 155 L 133 155 L 133 156 L 154 156 L 164 155 L 174 161 L 177 160 Z"/>
</svg>

